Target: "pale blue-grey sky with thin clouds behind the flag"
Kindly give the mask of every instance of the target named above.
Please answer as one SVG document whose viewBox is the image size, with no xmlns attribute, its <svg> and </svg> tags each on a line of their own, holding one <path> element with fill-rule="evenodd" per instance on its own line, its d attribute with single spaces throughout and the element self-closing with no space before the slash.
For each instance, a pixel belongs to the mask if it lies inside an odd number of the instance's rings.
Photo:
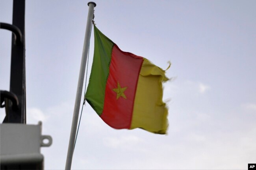
<svg viewBox="0 0 256 170">
<path fill-rule="evenodd" d="M 120 49 L 174 77 L 164 84 L 168 135 L 115 130 L 86 103 L 72 169 L 247 169 L 256 163 L 256 1 L 95 0 L 95 23 Z M 88 6 L 26 0 L 27 123 L 53 144 L 45 169 L 64 169 Z M 12 22 L 12 1 L 0 0 Z M 88 77 L 93 59 L 91 36 Z M 11 33 L 0 32 L 0 89 L 9 90 Z M 87 82 L 88 83 L 88 82 Z M 83 92 L 84 93 L 84 92 Z M 0 120 L 4 119 L 0 110 Z"/>
</svg>

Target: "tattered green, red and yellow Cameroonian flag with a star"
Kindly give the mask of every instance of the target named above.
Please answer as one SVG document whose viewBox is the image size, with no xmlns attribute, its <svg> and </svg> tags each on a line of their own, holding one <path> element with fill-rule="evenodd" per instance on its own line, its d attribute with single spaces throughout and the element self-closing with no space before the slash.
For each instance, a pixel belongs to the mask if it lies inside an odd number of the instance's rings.
<svg viewBox="0 0 256 170">
<path fill-rule="evenodd" d="M 165 134 L 168 110 L 162 101 L 165 71 L 121 51 L 94 25 L 94 57 L 86 101 L 115 129 L 142 128 Z"/>
</svg>

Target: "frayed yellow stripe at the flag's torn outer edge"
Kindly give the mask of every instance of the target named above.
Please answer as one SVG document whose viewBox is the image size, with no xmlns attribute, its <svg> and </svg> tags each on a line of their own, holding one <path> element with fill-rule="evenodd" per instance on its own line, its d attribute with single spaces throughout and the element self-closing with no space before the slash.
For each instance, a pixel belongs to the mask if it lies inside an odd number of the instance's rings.
<svg viewBox="0 0 256 170">
<path fill-rule="evenodd" d="M 153 133 L 166 133 L 168 110 L 162 100 L 162 82 L 167 80 L 163 69 L 144 58 L 135 93 L 130 129 L 142 128 Z"/>
</svg>

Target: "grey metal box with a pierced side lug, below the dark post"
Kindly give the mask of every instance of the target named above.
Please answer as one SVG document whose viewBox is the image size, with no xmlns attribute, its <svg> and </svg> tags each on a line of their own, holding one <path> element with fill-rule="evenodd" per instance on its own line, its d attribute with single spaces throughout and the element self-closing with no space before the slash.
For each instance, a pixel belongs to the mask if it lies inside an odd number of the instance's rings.
<svg viewBox="0 0 256 170">
<path fill-rule="evenodd" d="M 43 169 L 44 157 L 40 148 L 50 146 L 52 137 L 41 133 L 42 122 L 37 125 L 0 124 L 0 169 Z"/>
</svg>

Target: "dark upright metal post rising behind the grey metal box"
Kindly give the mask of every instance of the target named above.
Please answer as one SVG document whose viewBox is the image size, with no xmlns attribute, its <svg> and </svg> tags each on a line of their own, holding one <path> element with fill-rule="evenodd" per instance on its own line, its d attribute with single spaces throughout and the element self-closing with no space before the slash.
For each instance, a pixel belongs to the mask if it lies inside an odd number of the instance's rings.
<svg viewBox="0 0 256 170">
<path fill-rule="evenodd" d="M 8 106 L 4 122 L 26 124 L 26 72 L 25 72 L 25 0 L 13 0 L 13 25 L 21 31 L 21 42 L 12 36 L 10 92 L 17 95 L 19 108 Z"/>
</svg>

